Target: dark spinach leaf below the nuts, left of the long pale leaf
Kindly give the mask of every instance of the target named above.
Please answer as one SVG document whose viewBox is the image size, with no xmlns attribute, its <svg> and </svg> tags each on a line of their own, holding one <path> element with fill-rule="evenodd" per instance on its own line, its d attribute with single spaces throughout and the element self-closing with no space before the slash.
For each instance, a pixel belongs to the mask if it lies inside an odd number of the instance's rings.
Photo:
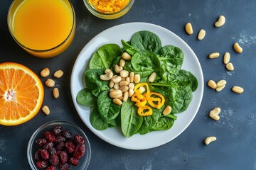
<svg viewBox="0 0 256 170">
<path fill-rule="evenodd" d="M 112 102 L 112 98 L 109 96 L 109 91 L 103 91 L 97 98 L 98 111 L 101 118 L 106 122 L 117 118 L 117 115 L 121 111 L 121 107 L 122 106 Z"/>
</svg>

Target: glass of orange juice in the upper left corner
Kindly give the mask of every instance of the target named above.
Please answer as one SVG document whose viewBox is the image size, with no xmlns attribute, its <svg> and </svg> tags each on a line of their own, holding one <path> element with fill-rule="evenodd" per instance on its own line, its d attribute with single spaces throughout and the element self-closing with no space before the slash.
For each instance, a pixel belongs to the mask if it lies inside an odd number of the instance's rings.
<svg viewBox="0 0 256 170">
<path fill-rule="evenodd" d="M 55 57 L 75 36 L 75 11 L 68 0 L 14 0 L 8 26 L 14 40 L 36 57 Z"/>
</svg>

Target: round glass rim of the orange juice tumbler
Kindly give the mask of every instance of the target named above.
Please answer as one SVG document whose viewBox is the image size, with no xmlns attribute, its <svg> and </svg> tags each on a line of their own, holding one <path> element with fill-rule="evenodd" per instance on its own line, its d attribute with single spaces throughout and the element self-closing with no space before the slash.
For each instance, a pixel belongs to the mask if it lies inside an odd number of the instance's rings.
<svg viewBox="0 0 256 170">
<path fill-rule="evenodd" d="M 54 49 L 60 47 L 60 46 L 63 45 L 65 42 L 67 42 L 68 39 L 72 36 L 73 31 L 75 30 L 75 23 L 76 23 L 76 21 L 75 21 L 75 9 L 73 8 L 73 5 L 71 4 L 70 0 L 67 0 L 67 1 L 68 1 L 68 4 L 70 5 L 71 10 L 72 10 L 72 14 L 73 14 L 73 24 L 72 24 L 72 28 L 71 28 L 71 30 L 70 30 L 70 33 L 68 34 L 67 38 L 65 38 L 65 40 L 63 40 L 63 42 L 60 42 L 60 44 L 56 45 L 55 47 L 51 47 L 51 48 L 46 49 L 46 50 L 36 50 L 36 49 L 30 48 L 30 47 L 26 47 L 25 45 L 21 44 L 21 42 L 19 42 L 19 41 L 16 39 L 16 37 L 15 37 L 13 31 L 11 30 L 11 28 L 13 28 L 13 27 L 11 26 L 13 20 L 12 20 L 12 19 L 10 20 L 10 17 L 11 17 L 11 16 L 10 16 L 10 15 L 11 15 L 10 13 L 11 13 L 11 9 L 12 9 L 12 7 L 13 7 L 15 1 L 16 1 L 16 0 L 14 0 L 14 1 L 11 3 L 11 6 L 9 7 L 9 11 L 8 11 L 8 14 L 7 14 L 7 25 L 8 25 L 9 32 L 11 33 L 12 38 L 14 38 L 14 40 L 18 43 L 18 45 L 20 45 L 21 47 L 23 47 L 25 50 L 29 50 L 29 51 L 33 51 L 33 52 L 48 52 L 48 51 L 50 51 L 50 50 L 54 50 Z"/>
</svg>

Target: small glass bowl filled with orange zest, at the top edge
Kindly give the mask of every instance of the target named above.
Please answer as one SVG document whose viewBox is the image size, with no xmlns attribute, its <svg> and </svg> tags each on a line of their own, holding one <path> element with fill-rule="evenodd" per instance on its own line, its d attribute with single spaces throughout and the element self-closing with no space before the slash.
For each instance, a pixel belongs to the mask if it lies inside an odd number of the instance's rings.
<svg viewBox="0 0 256 170">
<path fill-rule="evenodd" d="M 124 16 L 135 0 L 84 0 L 86 8 L 94 16 L 102 19 L 115 19 Z"/>
</svg>

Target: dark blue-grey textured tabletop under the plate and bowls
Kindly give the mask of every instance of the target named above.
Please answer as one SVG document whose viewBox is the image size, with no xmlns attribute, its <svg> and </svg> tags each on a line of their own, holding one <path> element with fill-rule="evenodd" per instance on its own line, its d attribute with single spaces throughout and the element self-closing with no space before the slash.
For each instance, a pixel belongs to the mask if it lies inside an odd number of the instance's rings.
<svg viewBox="0 0 256 170">
<path fill-rule="evenodd" d="M 11 1 L 0 1 L 0 62 L 19 62 L 37 73 L 44 67 L 65 72 L 65 77 L 57 81 L 58 100 L 53 101 L 51 91 L 46 89 L 44 103 L 52 108 L 52 114 L 40 112 L 23 125 L 0 126 L 0 169 L 30 169 L 26 147 L 31 134 L 39 125 L 56 119 L 70 120 L 85 130 L 92 147 L 90 170 L 256 169 L 255 0 L 136 0 L 127 15 L 113 21 L 92 16 L 82 1 L 72 2 L 77 18 L 72 45 L 62 55 L 42 60 L 28 55 L 11 38 L 6 23 Z M 213 23 L 220 15 L 226 17 L 225 26 L 215 28 Z M 134 21 L 162 26 L 187 42 L 201 62 L 205 84 L 209 79 L 228 81 L 220 93 L 206 86 L 196 118 L 180 136 L 161 147 L 141 151 L 120 149 L 100 140 L 82 123 L 70 96 L 70 74 L 82 47 L 102 30 Z M 187 22 L 193 24 L 193 35 L 184 31 Z M 196 36 L 201 28 L 206 30 L 206 38 L 198 41 Z M 240 42 L 242 54 L 234 52 L 234 42 Z M 209 60 L 208 54 L 216 51 L 220 57 Z M 224 52 L 230 52 L 234 72 L 225 69 Z M 244 94 L 234 94 L 230 90 L 233 85 L 242 86 Z M 218 122 L 208 118 L 208 112 L 216 106 L 222 108 Z M 218 140 L 206 146 L 203 140 L 209 135 Z"/>
</svg>

